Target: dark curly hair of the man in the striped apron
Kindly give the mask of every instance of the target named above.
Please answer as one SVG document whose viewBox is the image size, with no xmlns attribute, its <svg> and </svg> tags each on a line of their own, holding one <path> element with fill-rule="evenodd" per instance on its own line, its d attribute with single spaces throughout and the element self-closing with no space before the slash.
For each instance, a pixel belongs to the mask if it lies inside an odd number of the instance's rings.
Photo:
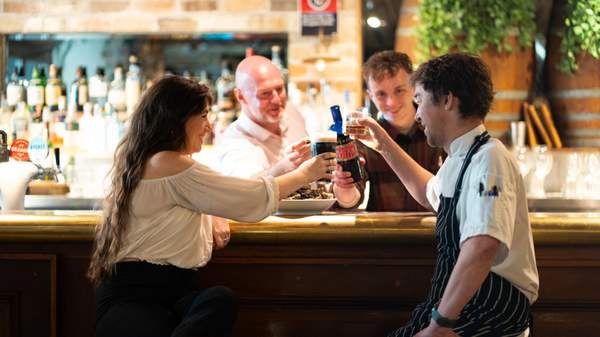
<svg viewBox="0 0 600 337">
<path fill-rule="evenodd" d="M 411 75 L 410 83 L 431 92 L 435 103 L 452 93 L 458 97 L 458 110 L 464 118 L 484 119 L 494 100 L 490 70 L 472 54 L 451 53 L 431 59 Z"/>
</svg>

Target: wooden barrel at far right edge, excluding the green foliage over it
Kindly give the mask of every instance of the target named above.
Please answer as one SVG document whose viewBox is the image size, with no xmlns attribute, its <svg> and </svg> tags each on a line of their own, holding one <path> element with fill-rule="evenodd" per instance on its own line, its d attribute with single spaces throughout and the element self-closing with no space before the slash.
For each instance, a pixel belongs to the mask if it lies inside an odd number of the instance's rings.
<svg viewBox="0 0 600 337">
<path fill-rule="evenodd" d="M 564 4 L 563 1 L 560 3 Z M 563 6 L 554 5 L 548 39 L 545 77 L 553 115 L 564 143 L 570 147 L 600 146 L 600 60 L 588 53 L 577 55 L 578 69 L 566 74 L 560 61 Z"/>
</svg>

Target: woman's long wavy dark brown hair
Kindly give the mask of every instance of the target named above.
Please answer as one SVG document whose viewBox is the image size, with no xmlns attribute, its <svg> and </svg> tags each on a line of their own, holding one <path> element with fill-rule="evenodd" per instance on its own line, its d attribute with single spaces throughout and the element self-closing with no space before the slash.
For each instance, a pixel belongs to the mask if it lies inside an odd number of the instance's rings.
<svg viewBox="0 0 600 337">
<path fill-rule="evenodd" d="M 96 228 L 87 273 L 95 286 L 112 273 L 127 231 L 131 196 L 142 179 L 146 162 L 158 152 L 183 149 L 186 122 L 206 113 L 211 103 L 205 85 L 179 76 L 160 79 L 141 97 L 115 151 L 111 190 L 104 200 L 102 222 Z"/>
</svg>

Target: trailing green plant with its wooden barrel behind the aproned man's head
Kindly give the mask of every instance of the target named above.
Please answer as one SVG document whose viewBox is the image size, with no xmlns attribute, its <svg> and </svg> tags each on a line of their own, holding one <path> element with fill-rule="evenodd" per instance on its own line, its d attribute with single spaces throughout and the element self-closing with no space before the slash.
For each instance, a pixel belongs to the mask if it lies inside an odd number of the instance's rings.
<svg viewBox="0 0 600 337">
<path fill-rule="evenodd" d="M 422 0 L 418 16 L 421 60 L 450 51 L 481 54 L 496 91 L 486 126 L 506 139 L 534 78 L 534 0 Z"/>
</svg>

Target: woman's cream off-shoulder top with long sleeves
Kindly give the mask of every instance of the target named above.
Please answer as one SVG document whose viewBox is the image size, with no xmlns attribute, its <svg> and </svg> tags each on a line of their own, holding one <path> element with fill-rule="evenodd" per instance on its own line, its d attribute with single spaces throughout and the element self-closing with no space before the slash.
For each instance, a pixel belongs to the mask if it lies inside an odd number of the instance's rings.
<svg viewBox="0 0 600 337">
<path fill-rule="evenodd" d="M 255 222 L 272 214 L 278 202 L 273 177 L 228 177 L 199 163 L 172 176 L 142 179 L 132 195 L 117 261 L 204 266 L 213 245 L 207 214 Z"/>
</svg>

